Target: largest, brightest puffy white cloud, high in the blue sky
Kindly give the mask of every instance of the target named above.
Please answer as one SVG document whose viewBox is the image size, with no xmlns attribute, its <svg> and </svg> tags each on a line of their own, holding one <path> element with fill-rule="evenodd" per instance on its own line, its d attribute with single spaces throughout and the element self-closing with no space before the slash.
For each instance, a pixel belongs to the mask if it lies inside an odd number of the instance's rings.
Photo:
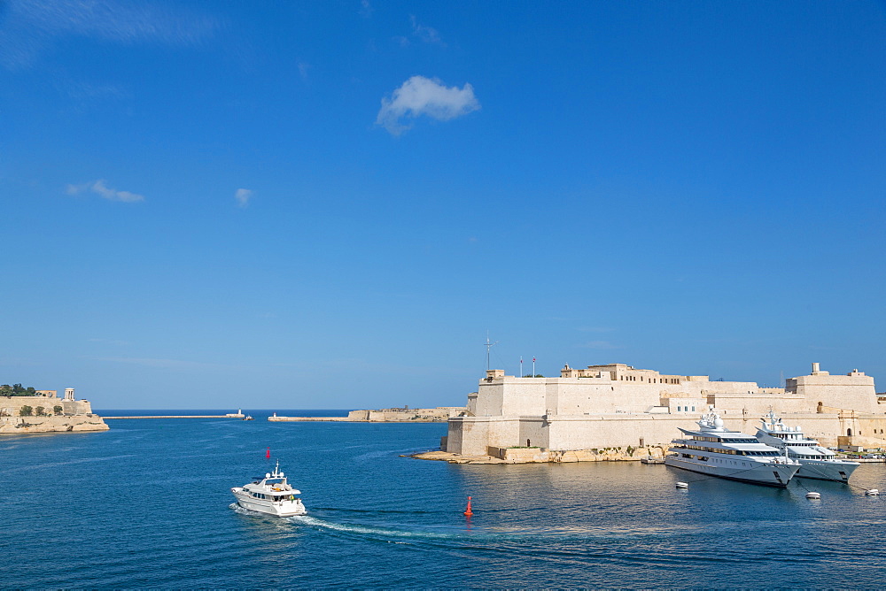
<svg viewBox="0 0 886 591">
<path fill-rule="evenodd" d="M 437 79 L 413 76 L 393 91 L 390 97 L 382 98 L 382 108 L 378 111 L 376 125 L 384 126 L 394 135 L 399 135 L 411 126 L 411 121 L 421 115 L 431 119 L 447 121 L 477 111 L 480 104 L 474 96 L 474 88 L 465 83 L 464 87 L 449 87 Z"/>
</svg>

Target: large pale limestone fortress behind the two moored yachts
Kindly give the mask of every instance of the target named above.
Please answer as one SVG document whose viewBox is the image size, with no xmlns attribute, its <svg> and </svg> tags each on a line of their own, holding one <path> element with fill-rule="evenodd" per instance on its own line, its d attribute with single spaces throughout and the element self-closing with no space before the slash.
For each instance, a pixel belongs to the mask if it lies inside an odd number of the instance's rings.
<svg viewBox="0 0 886 591">
<path fill-rule="evenodd" d="M 748 434 L 772 408 L 824 445 L 886 446 L 886 400 L 878 400 L 874 378 L 858 370 L 832 375 L 815 363 L 785 388 L 759 388 L 610 364 L 566 365 L 559 378 L 488 370 L 468 395 L 467 411 L 449 418 L 441 449 L 513 461 L 608 459 L 604 450 L 618 450 L 618 459 L 660 457 L 678 427 L 695 428 L 709 407 L 727 428 Z"/>
</svg>

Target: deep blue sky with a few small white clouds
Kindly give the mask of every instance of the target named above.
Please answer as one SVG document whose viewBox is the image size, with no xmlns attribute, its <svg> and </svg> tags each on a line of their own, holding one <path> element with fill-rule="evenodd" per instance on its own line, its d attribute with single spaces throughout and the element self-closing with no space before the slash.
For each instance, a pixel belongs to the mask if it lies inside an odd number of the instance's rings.
<svg viewBox="0 0 886 591">
<path fill-rule="evenodd" d="M 882 3 L 0 4 L 0 383 L 455 405 L 886 389 Z"/>
</svg>

